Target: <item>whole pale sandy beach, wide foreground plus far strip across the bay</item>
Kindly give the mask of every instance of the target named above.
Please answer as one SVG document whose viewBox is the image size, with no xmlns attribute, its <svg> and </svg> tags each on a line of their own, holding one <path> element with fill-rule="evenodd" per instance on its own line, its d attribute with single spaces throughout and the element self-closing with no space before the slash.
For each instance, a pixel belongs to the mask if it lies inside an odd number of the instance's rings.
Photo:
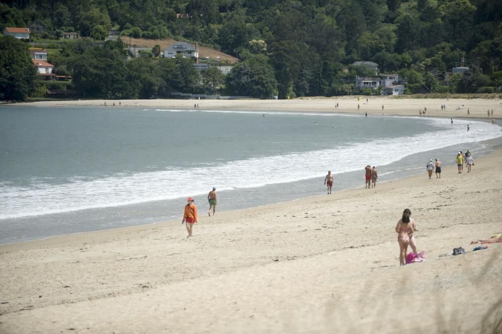
<svg viewBox="0 0 502 334">
<path fill-rule="evenodd" d="M 199 108 L 334 112 L 335 100 L 336 112 L 357 113 L 353 97 L 201 100 Z M 193 103 L 121 101 L 159 108 Z M 466 117 L 467 107 L 471 117 L 487 118 L 488 108 L 495 117 L 502 113 L 496 99 L 359 103 L 359 113 L 370 115 L 381 115 L 382 104 L 386 115 L 418 116 L 424 106 L 427 117 Z M 462 104 L 465 109 L 454 109 Z M 322 195 L 214 217 L 198 202 L 199 224 L 189 240 L 181 203 L 175 221 L 0 245 L 0 332 L 499 333 L 502 244 L 476 252 L 470 245 L 502 232 L 497 147 L 479 159 L 473 152 L 472 173 L 447 166 L 441 179 L 428 179 L 424 167 L 375 189 L 331 195 L 321 179 Z M 453 161 L 455 153 L 440 158 Z M 426 261 L 399 266 L 394 227 L 407 207 Z M 467 253 L 448 255 L 456 247 Z"/>
</svg>

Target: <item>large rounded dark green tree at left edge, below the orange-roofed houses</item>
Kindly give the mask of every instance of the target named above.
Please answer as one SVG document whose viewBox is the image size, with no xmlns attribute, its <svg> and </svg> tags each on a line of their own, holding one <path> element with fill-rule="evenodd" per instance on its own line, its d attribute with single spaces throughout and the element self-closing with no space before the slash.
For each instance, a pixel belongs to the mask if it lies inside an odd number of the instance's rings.
<svg viewBox="0 0 502 334">
<path fill-rule="evenodd" d="M 35 88 L 36 77 L 26 44 L 0 36 L 0 99 L 24 100 Z"/>
</svg>

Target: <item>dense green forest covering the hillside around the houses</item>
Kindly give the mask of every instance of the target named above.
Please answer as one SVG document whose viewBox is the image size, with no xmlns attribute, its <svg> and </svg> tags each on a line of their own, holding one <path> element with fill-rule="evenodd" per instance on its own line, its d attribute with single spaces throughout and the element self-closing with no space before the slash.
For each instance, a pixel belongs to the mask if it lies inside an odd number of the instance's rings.
<svg viewBox="0 0 502 334">
<path fill-rule="evenodd" d="M 367 68 L 350 66 L 357 60 L 378 63 L 381 73 L 398 72 L 411 93 L 492 92 L 502 86 L 499 0 L 17 0 L 0 4 L 0 28 L 23 27 L 36 19 L 55 37 L 62 31 L 77 31 L 102 40 L 114 28 L 133 37 L 175 37 L 213 46 L 242 60 L 225 80 L 231 94 L 263 98 L 351 94 L 353 84 L 344 79 L 371 74 Z M 182 59 L 129 62 L 121 50 L 115 49 L 112 56 L 96 47 L 88 49 L 81 54 L 63 50 L 51 59 L 56 66 L 65 66 L 75 87 L 87 96 L 144 97 L 153 91 L 198 92 L 217 87 L 207 78 L 203 82 L 208 84 L 200 85 L 198 73 L 192 71 L 184 77 L 187 69 Z M 85 65 L 73 64 L 72 55 L 82 56 Z M 469 71 L 449 75 L 462 60 Z M 91 87 L 94 78 L 86 73 L 99 71 L 115 81 L 103 80 L 99 87 Z M 139 88 L 117 87 L 127 82 Z"/>
</svg>

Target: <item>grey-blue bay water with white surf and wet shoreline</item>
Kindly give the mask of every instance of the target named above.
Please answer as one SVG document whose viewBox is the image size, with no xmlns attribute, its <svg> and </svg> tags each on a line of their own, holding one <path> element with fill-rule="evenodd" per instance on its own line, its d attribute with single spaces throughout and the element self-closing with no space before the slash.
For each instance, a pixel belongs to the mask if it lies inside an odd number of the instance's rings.
<svg viewBox="0 0 502 334">
<path fill-rule="evenodd" d="M 343 111 L 343 110 L 340 110 Z M 265 116 L 264 116 L 265 115 Z M 467 124 L 470 131 L 467 132 Z M 474 157 L 502 128 L 472 120 L 122 107 L 0 107 L 0 243 L 253 207 Z"/>
</svg>

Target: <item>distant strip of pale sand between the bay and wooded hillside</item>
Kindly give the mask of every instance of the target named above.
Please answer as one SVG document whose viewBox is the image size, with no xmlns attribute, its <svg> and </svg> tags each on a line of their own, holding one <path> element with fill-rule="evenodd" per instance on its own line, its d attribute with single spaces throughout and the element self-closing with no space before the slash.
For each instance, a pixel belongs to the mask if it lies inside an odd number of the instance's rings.
<svg viewBox="0 0 502 334">
<path fill-rule="evenodd" d="M 366 96 L 337 96 L 331 98 L 296 98 L 291 100 L 225 100 L 225 99 L 148 99 L 148 100 L 120 100 L 121 106 L 145 107 L 145 108 L 172 108 L 193 109 L 194 104 L 199 104 L 199 109 L 206 110 L 249 110 L 257 112 L 307 112 L 307 113 L 350 113 L 368 115 L 402 115 L 417 116 L 419 110 L 427 108 L 426 117 L 448 118 L 484 118 L 488 119 L 487 110 L 493 109 L 493 117 L 500 118 L 502 115 L 502 100 L 500 99 L 432 99 L 432 98 L 392 98 L 392 97 L 368 97 Z M 104 106 L 113 107 L 113 102 L 118 106 L 119 100 L 81 100 L 81 101 L 41 101 L 23 103 L 20 105 L 39 106 Z M 334 105 L 339 106 L 335 109 Z M 357 109 L 357 104 L 360 109 Z M 445 104 L 446 109 L 441 110 Z M 384 105 L 384 110 L 382 110 Z M 469 109 L 470 115 L 467 115 Z M 491 114 L 489 119 L 491 120 Z"/>
</svg>

